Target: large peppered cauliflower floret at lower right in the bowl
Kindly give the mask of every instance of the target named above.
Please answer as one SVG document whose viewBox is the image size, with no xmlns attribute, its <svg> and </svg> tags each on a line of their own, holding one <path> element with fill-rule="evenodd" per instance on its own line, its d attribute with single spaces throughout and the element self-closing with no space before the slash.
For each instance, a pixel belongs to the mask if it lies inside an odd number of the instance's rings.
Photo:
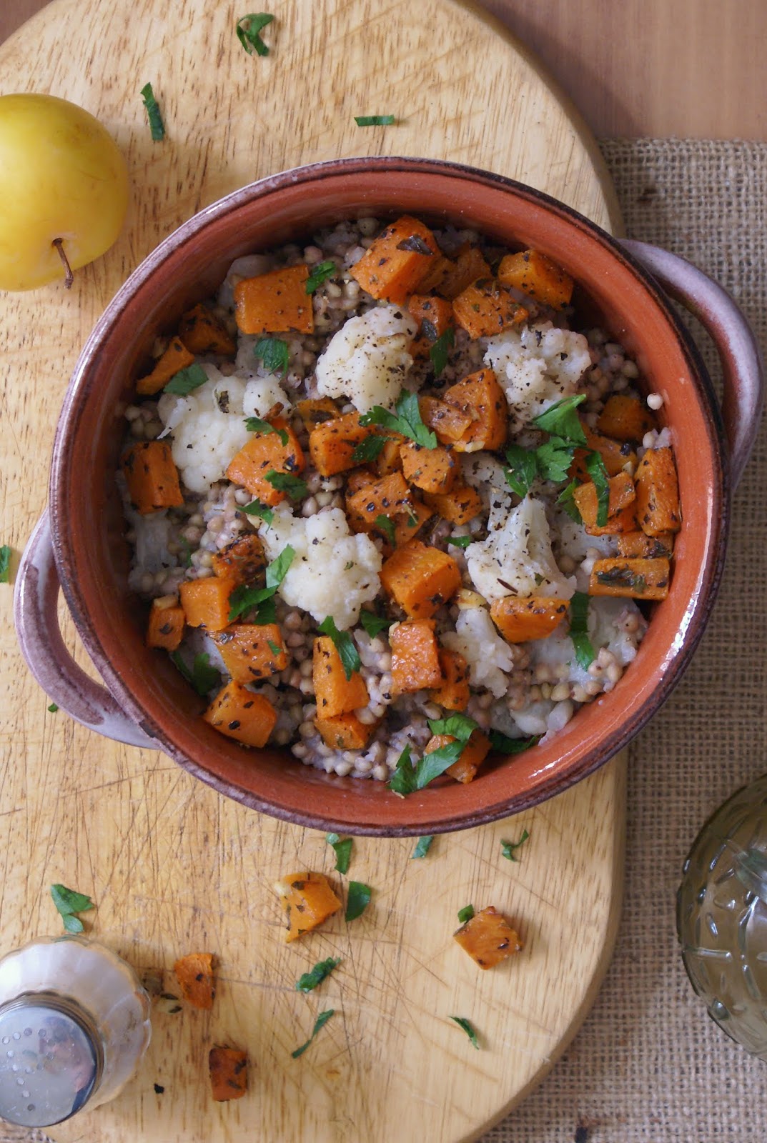
<svg viewBox="0 0 767 1143">
<path fill-rule="evenodd" d="M 564 576 L 554 562 L 545 509 L 530 496 L 509 513 L 503 527 L 470 544 L 465 555 L 472 583 L 485 599 L 511 594 L 569 599 L 575 591 L 575 580 Z"/>
</svg>

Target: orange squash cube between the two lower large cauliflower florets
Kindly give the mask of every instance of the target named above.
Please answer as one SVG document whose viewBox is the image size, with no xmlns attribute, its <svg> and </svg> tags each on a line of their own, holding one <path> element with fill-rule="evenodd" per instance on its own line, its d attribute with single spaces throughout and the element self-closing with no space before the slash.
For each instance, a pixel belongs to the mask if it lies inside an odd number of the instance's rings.
<svg viewBox="0 0 767 1143">
<path fill-rule="evenodd" d="M 461 572 L 447 552 L 410 539 L 384 562 L 381 583 L 407 615 L 428 620 L 456 593 Z"/>
</svg>

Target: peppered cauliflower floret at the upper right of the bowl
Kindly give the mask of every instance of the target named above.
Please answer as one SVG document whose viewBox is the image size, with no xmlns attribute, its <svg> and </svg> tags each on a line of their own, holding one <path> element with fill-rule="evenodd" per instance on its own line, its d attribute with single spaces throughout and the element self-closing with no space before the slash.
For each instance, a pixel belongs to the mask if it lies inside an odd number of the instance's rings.
<svg viewBox="0 0 767 1143">
<path fill-rule="evenodd" d="M 490 337 L 485 365 L 495 370 L 506 394 L 509 427 L 514 433 L 575 392 L 591 354 L 583 334 L 542 321 Z"/>
</svg>

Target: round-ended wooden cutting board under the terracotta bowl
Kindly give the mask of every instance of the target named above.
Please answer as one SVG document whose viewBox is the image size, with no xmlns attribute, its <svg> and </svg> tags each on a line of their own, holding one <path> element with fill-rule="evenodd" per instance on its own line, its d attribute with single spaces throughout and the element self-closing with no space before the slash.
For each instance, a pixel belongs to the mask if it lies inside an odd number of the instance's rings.
<svg viewBox="0 0 767 1143">
<path fill-rule="evenodd" d="M 270 0 L 270 10 L 266 58 L 246 55 L 234 35 L 243 8 L 209 0 L 55 0 L 0 48 L 0 90 L 48 90 L 93 111 L 133 182 L 121 239 L 69 294 L 0 295 L 0 542 L 19 550 L 45 505 L 66 379 L 104 305 L 161 238 L 227 191 L 339 154 L 421 154 L 511 175 L 618 224 L 593 142 L 485 15 L 453 0 Z M 151 141 L 139 97 L 147 81 L 162 143 Z M 354 123 L 383 113 L 397 126 Z M 270 884 L 303 868 L 330 871 L 322 834 L 258 816 L 160 753 L 48 713 L 16 649 L 10 594 L 0 588 L 0 948 L 61 930 L 48 887 L 62 881 L 97 902 L 88 929 L 139 972 L 163 969 L 170 992 L 176 957 L 219 959 L 214 1010 L 155 1012 L 138 1077 L 112 1104 L 51 1128 L 54 1138 L 452 1143 L 476 1138 L 545 1074 L 612 951 L 621 761 L 514 820 L 437 838 L 425 860 L 412 860 L 409 840 L 355 840 L 350 877 L 373 887 L 371 905 L 287 946 Z M 501 840 L 522 830 L 521 860 L 505 861 Z M 503 910 L 525 951 L 478 970 L 452 940 L 470 902 Z M 299 974 L 329 956 L 343 959 L 334 975 L 297 993 Z M 335 1016 L 293 1060 L 327 1008 Z M 473 1022 L 480 1052 L 449 1016 Z M 250 1089 L 237 1103 L 210 1100 L 215 1042 L 249 1053 Z"/>
</svg>

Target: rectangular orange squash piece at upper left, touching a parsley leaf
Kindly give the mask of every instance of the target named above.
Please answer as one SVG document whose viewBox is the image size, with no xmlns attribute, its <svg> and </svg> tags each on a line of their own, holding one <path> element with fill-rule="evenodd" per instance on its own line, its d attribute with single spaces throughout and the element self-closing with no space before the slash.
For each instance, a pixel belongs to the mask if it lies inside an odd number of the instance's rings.
<svg viewBox="0 0 767 1143">
<path fill-rule="evenodd" d="M 313 334 L 309 266 L 270 270 L 234 287 L 234 319 L 243 334 Z"/>
</svg>

